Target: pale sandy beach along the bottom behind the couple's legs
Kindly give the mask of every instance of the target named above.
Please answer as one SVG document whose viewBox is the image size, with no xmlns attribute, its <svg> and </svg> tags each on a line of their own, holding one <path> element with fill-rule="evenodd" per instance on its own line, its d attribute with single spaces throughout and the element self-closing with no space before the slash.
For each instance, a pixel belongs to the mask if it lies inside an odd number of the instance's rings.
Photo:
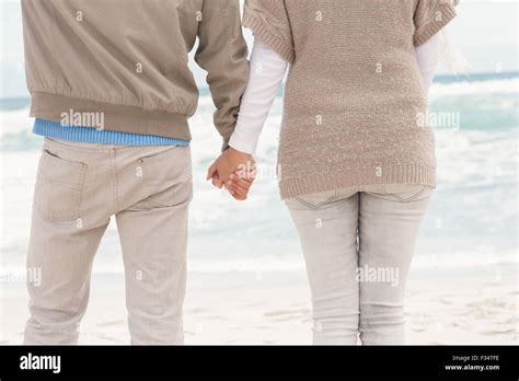
<svg viewBox="0 0 519 381">
<path fill-rule="evenodd" d="M 517 344 L 517 266 L 417 269 L 406 296 L 407 343 Z M 27 318 L 22 282 L 2 285 L 0 344 L 21 344 Z M 303 272 L 189 274 L 185 340 L 311 344 Z M 124 278 L 94 274 L 80 344 L 129 343 Z"/>
</svg>

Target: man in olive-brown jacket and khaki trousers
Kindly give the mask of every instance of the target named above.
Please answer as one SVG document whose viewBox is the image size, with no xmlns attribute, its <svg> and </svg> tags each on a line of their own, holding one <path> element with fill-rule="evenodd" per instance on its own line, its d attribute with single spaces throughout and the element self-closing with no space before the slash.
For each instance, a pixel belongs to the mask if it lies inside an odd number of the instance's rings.
<svg viewBox="0 0 519 381">
<path fill-rule="evenodd" d="M 249 77 L 238 0 L 22 0 L 34 132 L 26 344 L 76 344 L 92 263 L 115 216 L 132 344 L 182 344 L 188 118 L 208 72 L 223 148 Z M 239 154 L 234 152 L 235 154 Z M 244 160 L 247 158 L 244 157 Z"/>
</svg>

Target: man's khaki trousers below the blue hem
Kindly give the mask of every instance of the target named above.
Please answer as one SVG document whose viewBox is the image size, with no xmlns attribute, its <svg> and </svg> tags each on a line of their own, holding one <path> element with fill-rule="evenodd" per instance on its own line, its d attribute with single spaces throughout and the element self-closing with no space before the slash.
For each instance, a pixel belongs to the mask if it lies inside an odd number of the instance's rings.
<svg viewBox="0 0 519 381">
<path fill-rule="evenodd" d="M 92 263 L 115 216 L 132 344 L 182 344 L 188 147 L 125 147 L 46 139 L 34 194 L 25 344 L 76 344 Z"/>
</svg>

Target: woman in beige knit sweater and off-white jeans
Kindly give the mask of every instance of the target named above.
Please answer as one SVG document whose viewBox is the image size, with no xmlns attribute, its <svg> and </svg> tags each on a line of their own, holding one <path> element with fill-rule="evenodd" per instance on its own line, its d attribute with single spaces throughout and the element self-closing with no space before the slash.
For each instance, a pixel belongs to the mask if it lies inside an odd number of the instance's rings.
<svg viewBox="0 0 519 381">
<path fill-rule="evenodd" d="M 290 66 L 279 185 L 301 240 L 315 344 L 404 343 L 404 286 L 436 186 L 427 91 L 438 32 L 455 0 L 249 0 L 256 37 L 251 76 L 228 150 L 232 173 L 253 154 Z"/>
</svg>

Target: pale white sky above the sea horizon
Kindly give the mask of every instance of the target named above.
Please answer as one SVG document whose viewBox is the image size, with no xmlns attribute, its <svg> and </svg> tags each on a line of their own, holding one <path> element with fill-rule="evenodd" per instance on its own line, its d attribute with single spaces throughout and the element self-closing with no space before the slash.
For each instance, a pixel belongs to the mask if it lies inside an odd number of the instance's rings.
<svg viewBox="0 0 519 381">
<path fill-rule="evenodd" d="M 474 72 L 494 71 L 496 65 L 519 70 L 518 1 L 461 0 L 448 34 Z M 0 97 L 25 96 L 20 0 L 0 0 Z M 249 32 L 245 37 L 251 44 Z M 195 74 L 203 83 L 204 73 L 195 69 Z"/>
</svg>

